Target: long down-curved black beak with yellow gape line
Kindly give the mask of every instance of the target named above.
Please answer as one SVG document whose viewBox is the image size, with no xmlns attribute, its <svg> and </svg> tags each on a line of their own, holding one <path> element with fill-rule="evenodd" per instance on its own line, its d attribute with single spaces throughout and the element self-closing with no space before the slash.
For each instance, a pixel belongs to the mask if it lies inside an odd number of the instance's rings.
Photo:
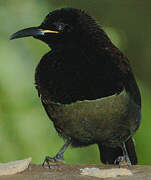
<svg viewBox="0 0 151 180">
<path fill-rule="evenodd" d="M 53 31 L 53 30 L 44 30 L 39 29 L 38 27 L 31 27 L 27 29 L 20 30 L 10 36 L 10 40 L 12 39 L 18 39 L 22 37 L 28 37 L 28 36 L 44 36 L 47 33 L 51 34 L 57 34 L 59 31 Z"/>
</svg>

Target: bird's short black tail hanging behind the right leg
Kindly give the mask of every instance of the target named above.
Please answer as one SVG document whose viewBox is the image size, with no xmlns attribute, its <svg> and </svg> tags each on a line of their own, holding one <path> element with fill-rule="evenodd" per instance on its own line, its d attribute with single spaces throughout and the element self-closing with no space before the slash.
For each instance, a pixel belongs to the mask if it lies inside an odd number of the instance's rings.
<svg viewBox="0 0 151 180">
<path fill-rule="evenodd" d="M 123 156 L 123 151 L 121 147 L 112 148 L 112 147 L 103 146 L 101 144 L 99 144 L 98 146 L 100 150 L 100 158 L 104 164 L 114 164 L 115 160 L 119 156 Z M 137 164 L 137 155 L 135 151 L 134 140 L 132 138 L 129 138 L 125 142 L 125 147 L 126 147 L 129 159 L 131 161 L 131 164 L 132 165 Z"/>
</svg>

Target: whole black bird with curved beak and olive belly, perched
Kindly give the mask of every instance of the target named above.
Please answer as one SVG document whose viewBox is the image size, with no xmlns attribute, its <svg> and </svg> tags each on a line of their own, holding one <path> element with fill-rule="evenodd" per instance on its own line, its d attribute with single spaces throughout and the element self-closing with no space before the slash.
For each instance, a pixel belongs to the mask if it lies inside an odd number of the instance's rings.
<svg viewBox="0 0 151 180">
<path fill-rule="evenodd" d="M 141 96 L 127 57 L 103 28 L 82 10 L 62 8 L 10 39 L 27 36 L 51 48 L 36 68 L 35 83 L 58 134 L 67 139 L 44 163 L 64 161 L 69 145 L 97 144 L 103 163 L 137 164 L 132 136 L 140 125 Z"/>
</svg>

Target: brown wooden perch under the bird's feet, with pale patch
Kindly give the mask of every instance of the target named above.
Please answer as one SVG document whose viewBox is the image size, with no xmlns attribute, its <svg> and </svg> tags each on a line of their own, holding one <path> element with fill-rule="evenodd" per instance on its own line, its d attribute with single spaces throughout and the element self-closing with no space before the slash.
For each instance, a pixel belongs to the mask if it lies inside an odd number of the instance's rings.
<svg viewBox="0 0 151 180">
<path fill-rule="evenodd" d="M 151 180 L 151 166 L 99 166 L 99 165 L 59 165 L 47 166 L 43 168 L 41 165 L 30 165 L 24 172 L 0 176 L 3 180 L 100 180 L 106 178 L 107 180 Z M 123 170 L 124 169 L 124 170 Z M 89 176 L 83 175 L 90 173 Z M 121 174 L 120 174 L 121 173 Z M 100 175 L 100 178 L 95 177 Z M 119 176 L 120 175 L 120 176 Z M 104 178 L 101 178 L 103 177 Z M 115 176 L 117 176 L 115 178 Z"/>
</svg>

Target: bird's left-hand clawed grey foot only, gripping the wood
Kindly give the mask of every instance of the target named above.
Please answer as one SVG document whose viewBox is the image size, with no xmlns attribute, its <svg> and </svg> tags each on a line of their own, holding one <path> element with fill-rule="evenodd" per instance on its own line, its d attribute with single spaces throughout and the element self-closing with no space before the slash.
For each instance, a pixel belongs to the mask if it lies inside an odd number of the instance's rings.
<svg viewBox="0 0 151 180">
<path fill-rule="evenodd" d="M 48 168 L 51 169 L 51 166 L 54 165 L 58 166 L 59 164 L 65 164 L 65 161 L 62 155 L 57 154 L 53 158 L 46 156 L 44 162 L 42 163 L 42 166 L 44 167 L 45 164 L 47 164 Z"/>
</svg>

